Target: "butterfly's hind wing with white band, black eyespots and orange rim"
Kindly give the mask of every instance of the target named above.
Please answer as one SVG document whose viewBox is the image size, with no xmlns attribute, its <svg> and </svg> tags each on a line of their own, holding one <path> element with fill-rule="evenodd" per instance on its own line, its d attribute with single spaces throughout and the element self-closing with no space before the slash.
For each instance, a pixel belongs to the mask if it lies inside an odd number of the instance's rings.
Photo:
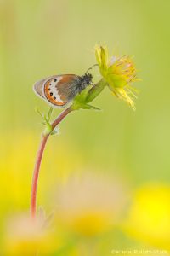
<svg viewBox="0 0 170 256">
<path fill-rule="evenodd" d="M 54 76 L 44 84 L 44 96 L 55 107 L 64 107 L 77 94 L 79 77 L 74 74 Z"/>
</svg>

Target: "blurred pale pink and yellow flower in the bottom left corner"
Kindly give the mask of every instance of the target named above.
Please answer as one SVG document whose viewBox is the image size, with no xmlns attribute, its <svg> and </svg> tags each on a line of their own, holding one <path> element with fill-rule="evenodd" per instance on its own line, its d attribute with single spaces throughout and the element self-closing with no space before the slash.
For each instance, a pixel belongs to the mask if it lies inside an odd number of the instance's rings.
<svg viewBox="0 0 170 256">
<path fill-rule="evenodd" d="M 59 247 L 59 239 L 54 239 L 44 226 L 44 218 L 32 220 L 21 215 L 8 220 L 4 247 L 4 255 L 8 256 L 47 256 Z"/>
</svg>

